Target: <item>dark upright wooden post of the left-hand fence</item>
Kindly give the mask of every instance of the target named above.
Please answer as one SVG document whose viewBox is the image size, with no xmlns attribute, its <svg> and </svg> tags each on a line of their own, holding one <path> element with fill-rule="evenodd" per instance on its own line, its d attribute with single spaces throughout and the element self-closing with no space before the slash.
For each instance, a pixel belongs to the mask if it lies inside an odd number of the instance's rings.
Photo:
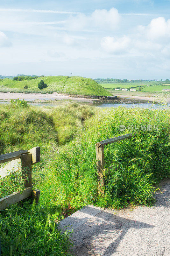
<svg viewBox="0 0 170 256">
<path fill-rule="evenodd" d="M 25 188 L 32 187 L 32 154 L 21 155 L 22 177 L 27 173 L 28 180 L 25 182 Z"/>
</svg>

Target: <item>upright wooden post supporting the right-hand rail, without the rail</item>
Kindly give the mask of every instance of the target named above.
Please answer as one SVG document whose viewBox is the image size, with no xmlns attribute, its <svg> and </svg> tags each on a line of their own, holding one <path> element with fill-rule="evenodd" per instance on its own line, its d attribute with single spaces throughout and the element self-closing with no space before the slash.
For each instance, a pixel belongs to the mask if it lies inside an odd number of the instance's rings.
<svg viewBox="0 0 170 256">
<path fill-rule="evenodd" d="M 104 146 L 98 146 L 96 144 L 96 161 L 97 161 L 97 183 L 98 183 L 98 194 L 104 195 L 104 189 L 102 188 L 105 186 L 105 163 L 104 163 Z"/>
</svg>

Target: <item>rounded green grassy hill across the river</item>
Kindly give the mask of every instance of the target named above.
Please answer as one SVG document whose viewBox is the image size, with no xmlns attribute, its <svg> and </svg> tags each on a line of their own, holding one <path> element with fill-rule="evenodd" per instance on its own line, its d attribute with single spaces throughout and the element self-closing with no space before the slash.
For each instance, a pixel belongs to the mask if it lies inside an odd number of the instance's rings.
<svg viewBox="0 0 170 256">
<path fill-rule="evenodd" d="M 44 80 L 47 87 L 40 90 L 38 83 Z M 24 89 L 27 85 L 28 89 Z M 1 91 L 31 91 L 31 92 L 58 92 L 63 94 L 76 95 L 96 95 L 96 96 L 112 96 L 110 92 L 105 90 L 101 85 L 90 78 L 81 76 L 42 76 L 33 80 L 14 81 L 9 78 L 0 80 Z"/>
</svg>

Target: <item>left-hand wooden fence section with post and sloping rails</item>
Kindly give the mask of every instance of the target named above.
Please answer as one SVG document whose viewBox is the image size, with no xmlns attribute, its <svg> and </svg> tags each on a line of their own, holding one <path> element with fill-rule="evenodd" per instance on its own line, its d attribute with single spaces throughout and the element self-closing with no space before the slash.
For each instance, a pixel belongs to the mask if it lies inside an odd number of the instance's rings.
<svg viewBox="0 0 170 256">
<path fill-rule="evenodd" d="M 39 190 L 32 190 L 32 164 L 38 163 L 40 160 L 40 148 L 34 147 L 30 150 L 19 150 L 11 153 L 0 155 L 0 164 L 9 162 L 0 168 L 0 178 L 7 177 L 10 173 L 21 171 L 21 175 L 26 174 L 25 189 L 22 194 L 20 192 L 12 193 L 0 199 L 0 211 L 7 208 L 8 205 L 16 204 L 25 198 L 32 197 L 39 202 Z"/>
</svg>

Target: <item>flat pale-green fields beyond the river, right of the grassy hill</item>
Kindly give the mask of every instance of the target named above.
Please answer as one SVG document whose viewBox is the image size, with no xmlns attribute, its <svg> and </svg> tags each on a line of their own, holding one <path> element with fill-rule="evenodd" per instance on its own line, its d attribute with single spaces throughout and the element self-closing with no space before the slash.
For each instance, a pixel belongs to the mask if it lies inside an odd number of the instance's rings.
<svg viewBox="0 0 170 256">
<path fill-rule="evenodd" d="M 129 88 L 129 87 L 135 87 L 134 89 L 137 89 L 142 86 L 142 84 L 138 84 L 138 83 L 107 83 L 107 84 L 100 84 L 101 86 L 103 86 L 104 88 L 108 88 L 108 89 L 112 89 L 112 88 L 117 88 L 117 87 L 122 87 L 122 88 Z M 160 85 L 160 84 L 155 84 L 152 86 L 145 86 L 143 87 L 143 92 L 159 92 L 162 91 L 163 89 L 170 89 L 170 85 Z"/>
</svg>

